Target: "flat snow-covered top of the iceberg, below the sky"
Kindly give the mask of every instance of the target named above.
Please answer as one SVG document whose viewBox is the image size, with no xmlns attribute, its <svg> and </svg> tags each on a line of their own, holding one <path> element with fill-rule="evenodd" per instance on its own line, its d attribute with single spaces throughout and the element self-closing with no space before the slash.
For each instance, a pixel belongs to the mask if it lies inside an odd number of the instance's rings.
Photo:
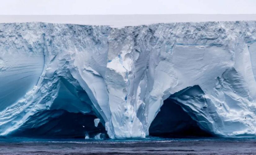
<svg viewBox="0 0 256 155">
<path fill-rule="evenodd" d="M 170 15 L 0 15 L 0 23 L 47 22 L 60 24 L 136 26 L 154 23 L 256 20 L 256 14 Z"/>
</svg>

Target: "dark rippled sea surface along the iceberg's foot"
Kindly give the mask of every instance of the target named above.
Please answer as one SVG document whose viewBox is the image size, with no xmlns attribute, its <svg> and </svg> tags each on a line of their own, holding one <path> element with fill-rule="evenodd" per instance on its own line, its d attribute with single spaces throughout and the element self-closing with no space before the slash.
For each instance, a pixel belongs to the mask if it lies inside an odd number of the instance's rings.
<svg viewBox="0 0 256 155">
<path fill-rule="evenodd" d="M 0 138 L 0 154 L 256 154 L 256 138 Z"/>
</svg>

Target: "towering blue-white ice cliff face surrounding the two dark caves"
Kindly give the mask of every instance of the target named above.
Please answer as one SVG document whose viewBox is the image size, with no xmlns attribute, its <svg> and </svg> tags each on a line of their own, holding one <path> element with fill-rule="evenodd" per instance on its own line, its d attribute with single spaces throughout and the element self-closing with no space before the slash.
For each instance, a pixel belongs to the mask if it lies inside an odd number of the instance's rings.
<svg viewBox="0 0 256 155">
<path fill-rule="evenodd" d="M 112 139 L 144 138 L 166 99 L 204 131 L 256 135 L 255 21 L 0 24 L 0 52 L 1 135 L 62 109 L 95 115 Z"/>
</svg>

